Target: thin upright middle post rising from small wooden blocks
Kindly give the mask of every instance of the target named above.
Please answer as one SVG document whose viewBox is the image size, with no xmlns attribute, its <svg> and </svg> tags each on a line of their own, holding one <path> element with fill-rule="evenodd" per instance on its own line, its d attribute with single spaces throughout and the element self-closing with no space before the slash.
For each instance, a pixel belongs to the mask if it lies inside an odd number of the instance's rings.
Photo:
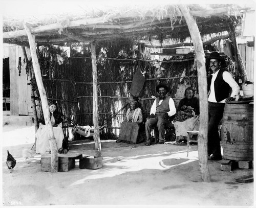
<svg viewBox="0 0 256 208">
<path fill-rule="evenodd" d="M 93 66 L 93 139 L 95 142 L 96 156 L 101 157 L 101 145 L 99 138 L 99 122 L 98 122 L 98 87 L 97 87 L 97 64 L 96 64 L 96 42 L 91 42 L 92 66 Z"/>
</svg>

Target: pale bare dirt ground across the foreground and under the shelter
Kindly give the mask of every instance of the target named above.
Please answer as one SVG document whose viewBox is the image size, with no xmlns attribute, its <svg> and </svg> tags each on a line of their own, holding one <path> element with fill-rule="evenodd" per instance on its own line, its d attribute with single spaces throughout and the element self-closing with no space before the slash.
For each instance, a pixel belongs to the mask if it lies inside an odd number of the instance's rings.
<svg viewBox="0 0 256 208">
<path fill-rule="evenodd" d="M 209 161 L 212 182 L 202 182 L 197 145 L 131 145 L 101 141 L 103 168 L 69 172 L 42 172 L 40 155 L 25 163 L 24 148 L 34 143 L 34 127 L 5 125 L 3 147 L 3 205 L 160 205 L 253 206 L 253 182 L 234 178 L 253 169 L 221 171 L 221 161 Z M 17 160 L 12 173 L 6 166 L 7 150 Z M 70 152 L 94 154 L 94 143 L 72 142 Z M 92 207 L 92 206 L 89 206 Z M 112 207 L 112 206 L 111 206 Z"/>
</svg>

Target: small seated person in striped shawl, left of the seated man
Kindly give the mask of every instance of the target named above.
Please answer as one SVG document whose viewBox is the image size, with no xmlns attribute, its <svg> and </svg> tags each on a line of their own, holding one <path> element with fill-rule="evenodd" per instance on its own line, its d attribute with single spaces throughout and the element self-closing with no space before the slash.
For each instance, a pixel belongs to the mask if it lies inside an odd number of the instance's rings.
<svg viewBox="0 0 256 208">
<path fill-rule="evenodd" d="M 142 110 L 138 107 L 135 99 L 129 101 L 130 108 L 127 109 L 124 121 L 121 123 L 120 135 L 117 143 L 139 143 L 142 142 L 143 136 L 139 136 L 139 130 L 143 123 Z"/>
</svg>

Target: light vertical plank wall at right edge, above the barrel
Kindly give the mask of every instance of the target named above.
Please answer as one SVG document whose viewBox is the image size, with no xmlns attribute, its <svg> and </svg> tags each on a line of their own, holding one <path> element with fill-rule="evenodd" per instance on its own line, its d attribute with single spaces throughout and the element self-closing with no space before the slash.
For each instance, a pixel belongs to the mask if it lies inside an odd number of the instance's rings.
<svg viewBox="0 0 256 208">
<path fill-rule="evenodd" d="M 254 47 L 248 47 L 245 43 L 238 44 L 238 47 L 249 81 L 254 82 Z"/>
</svg>

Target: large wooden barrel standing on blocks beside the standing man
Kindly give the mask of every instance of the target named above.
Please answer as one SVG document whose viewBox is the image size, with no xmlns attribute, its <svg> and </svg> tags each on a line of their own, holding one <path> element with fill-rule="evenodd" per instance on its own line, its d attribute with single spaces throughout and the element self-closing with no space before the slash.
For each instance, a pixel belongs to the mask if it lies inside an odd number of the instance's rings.
<svg viewBox="0 0 256 208">
<path fill-rule="evenodd" d="M 221 137 L 225 159 L 253 160 L 253 105 L 226 103 Z"/>
</svg>

